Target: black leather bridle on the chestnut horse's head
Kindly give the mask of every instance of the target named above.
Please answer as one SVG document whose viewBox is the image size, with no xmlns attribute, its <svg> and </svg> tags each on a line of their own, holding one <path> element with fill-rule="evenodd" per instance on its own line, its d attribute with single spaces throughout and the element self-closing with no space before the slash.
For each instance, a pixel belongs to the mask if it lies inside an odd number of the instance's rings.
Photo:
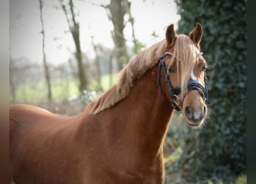
<svg viewBox="0 0 256 184">
<path fill-rule="evenodd" d="M 202 53 L 200 53 L 200 54 L 202 55 Z M 190 80 L 188 83 L 188 87 L 187 87 L 188 90 L 181 101 L 178 97 L 178 95 L 181 93 L 181 85 L 178 85 L 177 87 L 175 87 L 175 89 L 173 89 L 173 86 L 171 85 L 171 81 L 170 81 L 170 78 L 169 78 L 169 75 L 167 72 L 165 59 L 164 59 L 167 55 L 173 56 L 173 53 L 166 52 L 165 54 L 163 54 L 160 57 L 159 68 L 158 68 L 158 86 L 160 86 L 163 95 L 165 95 L 165 97 L 167 98 L 166 94 L 163 91 L 163 87 L 161 84 L 161 70 L 163 69 L 163 73 L 165 74 L 165 81 L 167 83 L 169 93 L 171 95 L 170 106 L 172 106 L 178 112 L 183 113 L 182 110 L 179 108 L 179 106 L 182 106 L 186 95 L 189 93 L 190 90 L 193 90 L 193 89 L 196 89 L 198 91 L 198 93 L 201 95 L 204 102 L 206 102 L 208 99 L 208 90 L 207 90 L 208 81 L 207 81 L 206 72 L 204 71 L 204 86 L 202 86 L 201 83 L 196 80 Z"/>
</svg>

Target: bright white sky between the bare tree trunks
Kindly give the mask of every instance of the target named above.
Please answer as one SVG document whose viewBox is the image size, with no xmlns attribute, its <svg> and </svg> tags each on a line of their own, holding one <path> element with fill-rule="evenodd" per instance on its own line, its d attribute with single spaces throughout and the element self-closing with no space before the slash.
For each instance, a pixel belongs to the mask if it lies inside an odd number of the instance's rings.
<svg viewBox="0 0 256 184">
<path fill-rule="evenodd" d="M 131 14 L 135 18 L 135 37 L 149 46 L 165 39 L 165 28 L 169 24 L 177 24 L 176 4 L 174 1 L 131 1 Z M 65 2 L 64 3 L 68 3 Z M 111 37 L 113 24 L 108 20 L 106 9 L 109 1 L 74 1 L 80 25 L 82 52 L 93 58 L 94 44 L 113 48 Z M 45 55 L 47 62 L 59 64 L 67 62 L 70 53 L 75 52 L 74 41 L 68 28 L 67 20 L 59 1 L 43 1 L 43 21 L 45 29 Z M 128 16 L 124 17 L 125 21 Z M 176 27 L 177 28 L 177 27 Z M 42 62 L 42 30 L 40 22 L 39 1 L 10 0 L 10 56 L 27 57 L 32 62 Z M 155 33 L 157 37 L 153 37 Z M 128 23 L 124 29 L 128 47 L 133 47 L 132 28 Z"/>
</svg>

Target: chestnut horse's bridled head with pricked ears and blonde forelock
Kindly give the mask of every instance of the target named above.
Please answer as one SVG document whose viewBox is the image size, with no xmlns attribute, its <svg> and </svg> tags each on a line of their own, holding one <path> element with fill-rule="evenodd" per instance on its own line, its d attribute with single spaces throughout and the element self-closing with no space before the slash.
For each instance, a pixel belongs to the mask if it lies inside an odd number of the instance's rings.
<svg viewBox="0 0 256 184">
<path fill-rule="evenodd" d="M 162 91 L 170 98 L 173 108 L 184 113 L 185 120 L 192 127 L 198 127 L 207 117 L 208 98 L 207 63 L 200 52 L 202 26 L 190 32 L 189 36 L 177 35 L 173 24 L 166 30 L 165 54 L 161 56 L 159 72 L 165 73 L 166 87 Z M 166 67 L 167 66 L 167 67 Z M 160 82 L 160 81 L 159 81 Z M 161 82 L 160 82 L 161 83 Z"/>
</svg>

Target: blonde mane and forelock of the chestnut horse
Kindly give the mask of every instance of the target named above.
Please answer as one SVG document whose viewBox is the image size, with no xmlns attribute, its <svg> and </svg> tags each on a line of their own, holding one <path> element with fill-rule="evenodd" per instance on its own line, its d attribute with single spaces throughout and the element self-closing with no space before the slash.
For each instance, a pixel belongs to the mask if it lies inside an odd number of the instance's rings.
<svg viewBox="0 0 256 184">
<path fill-rule="evenodd" d="M 133 79 L 140 78 L 147 70 L 155 66 L 159 57 L 165 52 L 166 40 L 152 45 L 139 52 L 133 59 L 120 71 L 119 80 L 115 85 L 105 91 L 96 101 L 91 102 L 90 114 L 97 114 L 102 110 L 111 108 L 117 102 L 127 97 L 132 88 Z M 197 49 L 197 50 L 196 50 Z M 177 62 L 177 71 L 181 77 L 181 91 L 185 91 L 190 74 L 196 62 L 198 48 L 193 41 L 184 34 L 179 34 L 175 41 L 174 52 L 170 65 Z M 175 59 L 177 58 L 177 59 Z M 182 68 L 182 70 L 179 70 Z"/>
</svg>

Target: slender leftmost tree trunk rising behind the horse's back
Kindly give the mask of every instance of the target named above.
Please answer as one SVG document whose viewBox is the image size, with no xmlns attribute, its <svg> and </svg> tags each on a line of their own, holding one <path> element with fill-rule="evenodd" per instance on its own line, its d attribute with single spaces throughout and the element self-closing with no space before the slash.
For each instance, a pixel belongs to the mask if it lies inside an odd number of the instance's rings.
<svg viewBox="0 0 256 184">
<path fill-rule="evenodd" d="M 42 1 L 39 0 L 39 3 L 40 3 L 40 20 L 41 20 L 41 24 L 42 24 L 42 35 L 43 35 L 43 63 L 44 63 L 44 74 L 45 74 L 45 80 L 46 80 L 46 83 L 47 83 L 47 89 L 48 89 L 48 95 L 47 95 L 47 99 L 48 101 L 51 101 L 52 100 L 52 91 L 51 91 L 51 79 L 50 79 L 50 76 L 49 76 L 49 69 L 48 69 L 48 65 L 47 65 L 47 62 L 46 62 L 46 59 L 45 59 L 45 51 L 44 51 L 44 22 L 43 22 L 43 17 L 42 17 L 42 7 L 43 7 L 43 4 L 42 4 Z"/>
</svg>

